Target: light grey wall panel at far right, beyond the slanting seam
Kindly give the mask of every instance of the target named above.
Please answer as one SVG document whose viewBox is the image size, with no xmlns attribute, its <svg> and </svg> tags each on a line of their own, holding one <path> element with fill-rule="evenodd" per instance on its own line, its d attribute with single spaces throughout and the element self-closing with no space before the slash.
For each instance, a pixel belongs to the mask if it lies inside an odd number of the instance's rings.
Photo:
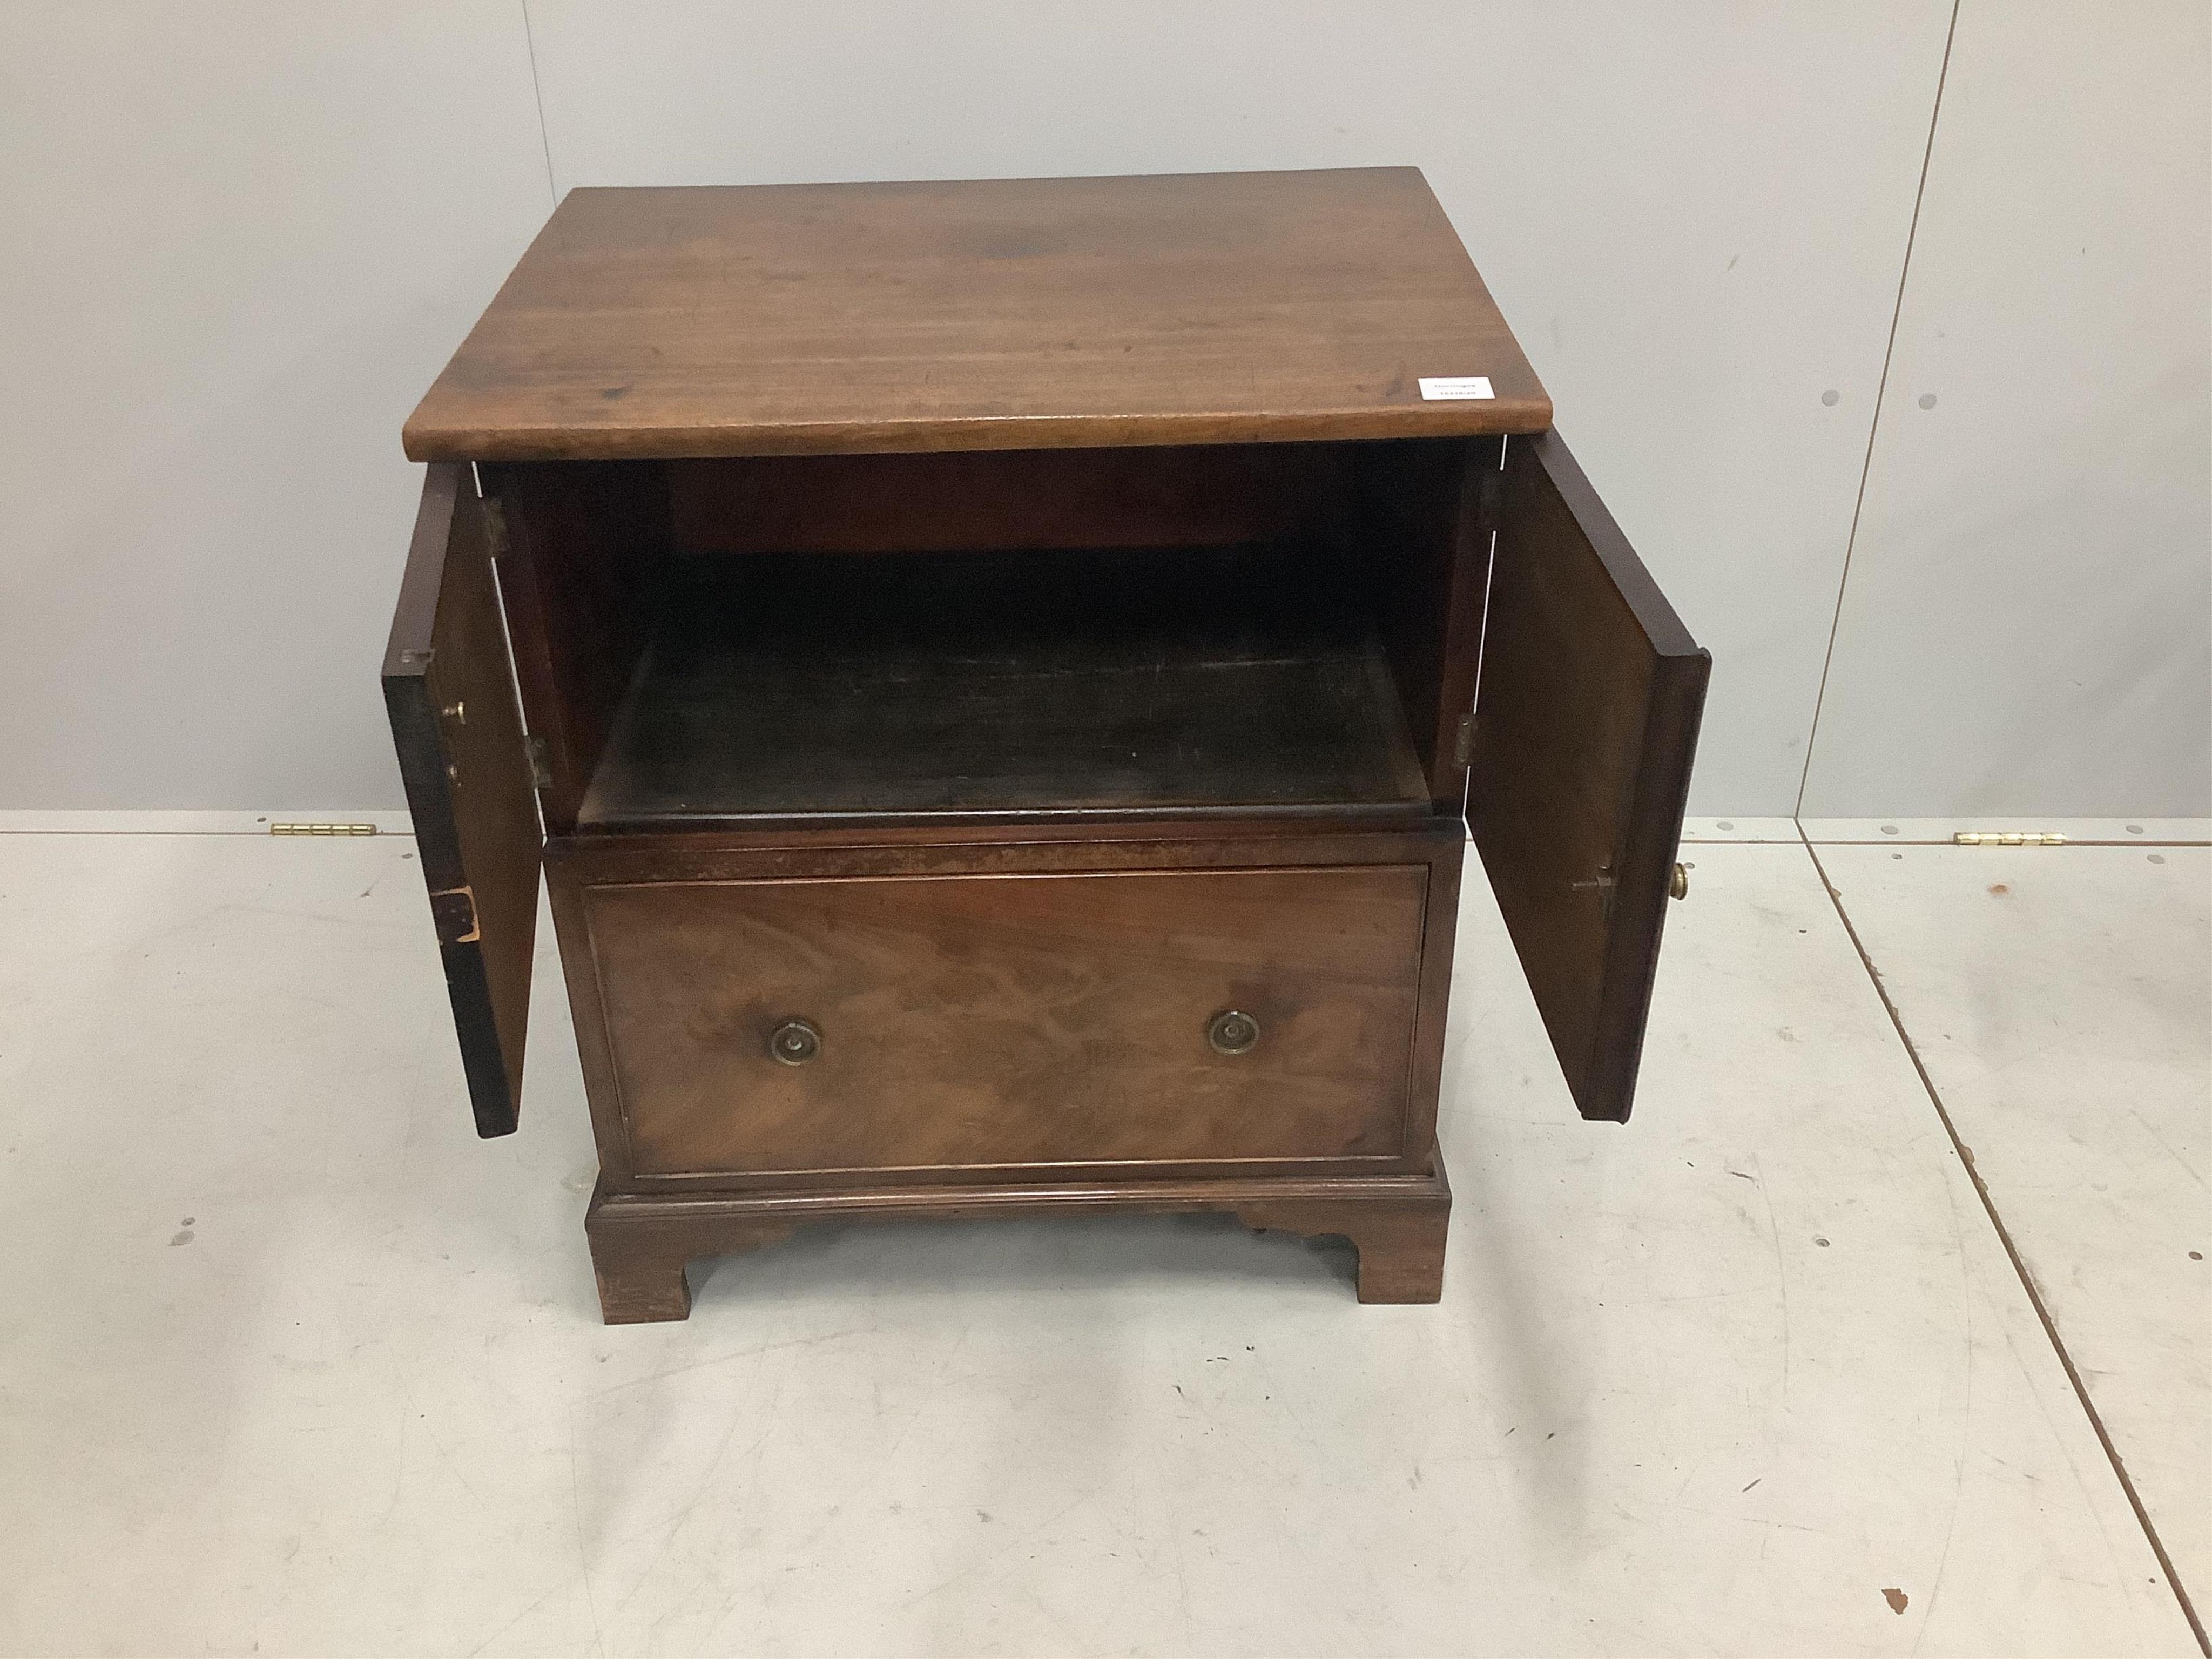
<svg viewBox="0 0 2212 1659">
<path fill-rule="evenodd" d="M 1805 812 L 2212 812 L 2212 9 L 1964 0 Z"/>
</svg>

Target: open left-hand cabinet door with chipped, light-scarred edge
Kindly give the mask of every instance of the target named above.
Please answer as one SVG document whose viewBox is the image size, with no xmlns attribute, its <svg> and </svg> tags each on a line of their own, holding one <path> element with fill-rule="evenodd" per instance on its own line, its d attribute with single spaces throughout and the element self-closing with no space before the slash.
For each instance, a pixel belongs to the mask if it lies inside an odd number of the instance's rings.
<svg viewBox="0 0 2212 1659">
<path fill-rule="evenodd" d="M 385 712 L 476 1133 L 487 1137 L 511 1135 L 522 1102 L 544 845 L 491 540 L 493 520 L 469 469 L 431 465 L 385 646 Z"/>
</svg>

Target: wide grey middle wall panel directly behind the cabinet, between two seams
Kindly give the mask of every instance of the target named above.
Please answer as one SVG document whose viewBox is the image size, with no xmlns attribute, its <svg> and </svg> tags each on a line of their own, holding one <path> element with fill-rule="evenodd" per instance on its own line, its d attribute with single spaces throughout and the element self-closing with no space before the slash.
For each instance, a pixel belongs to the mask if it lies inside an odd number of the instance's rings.
<svg viewBox="0 0 2212 1659">
<path fill-rule="evenodd" d="M 531 22 L 562 188 L 1422 166 L 1714 650 L 1692 810 L 1794 805 L 1947 0 L 531 0 Z"/>
</svg>

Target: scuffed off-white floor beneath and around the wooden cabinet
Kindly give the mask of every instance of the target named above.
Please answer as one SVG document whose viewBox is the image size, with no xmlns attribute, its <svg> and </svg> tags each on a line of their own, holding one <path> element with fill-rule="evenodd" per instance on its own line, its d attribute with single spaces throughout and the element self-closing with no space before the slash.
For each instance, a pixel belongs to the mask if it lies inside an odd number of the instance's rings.
<svg viewBox="0 0 2212 1659">
<path fill-rule="evenodd" d="M 624 1329 L 557 978 L 476 1141 L 411 841 L 0 834 L 0 1652 L 2199 1652 L 1858 945 L 2205 1599 L 2212 849 L 1838 832 L 1854 945 L 1692 830 L 1628 1128 L 1469 883 L 1442 1307 L 993 1223 Z"/>
</svg>

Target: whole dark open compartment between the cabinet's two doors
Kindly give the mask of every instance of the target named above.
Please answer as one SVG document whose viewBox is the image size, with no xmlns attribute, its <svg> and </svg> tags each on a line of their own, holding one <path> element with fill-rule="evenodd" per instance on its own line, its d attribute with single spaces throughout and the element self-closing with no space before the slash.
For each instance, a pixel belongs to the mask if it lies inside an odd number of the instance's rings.
<svg viewBox="0 0 2212 1659">
<path fill-rule="evenodd" d="M 487 469 L 549 827 L 1427 814 L 1451 794 L 1471 458 Z"/>
</svg>

